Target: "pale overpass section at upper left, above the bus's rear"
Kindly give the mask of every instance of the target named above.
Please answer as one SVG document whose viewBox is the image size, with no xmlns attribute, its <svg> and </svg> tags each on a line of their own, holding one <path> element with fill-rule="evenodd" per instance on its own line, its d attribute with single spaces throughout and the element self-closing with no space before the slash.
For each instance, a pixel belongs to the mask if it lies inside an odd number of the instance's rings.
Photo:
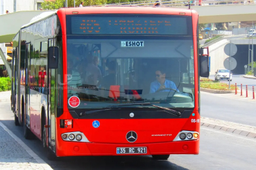
<svg viewBox="0 0 256 170">
<path fill-rule="evenodd" d="M 0 15 L 0 43 L 8 43 L 13 41 L 21 26 L 30 22 L 34 16 L 46 11 L 19 11 Z"/>
</svg>

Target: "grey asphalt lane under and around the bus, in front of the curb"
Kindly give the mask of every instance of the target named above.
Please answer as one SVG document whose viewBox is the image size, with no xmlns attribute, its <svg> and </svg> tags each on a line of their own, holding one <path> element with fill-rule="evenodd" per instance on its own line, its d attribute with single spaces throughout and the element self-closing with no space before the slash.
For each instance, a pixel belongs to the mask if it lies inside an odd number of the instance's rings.
<svg viewBox="0 0 256 170">
<path fill-rule="evenodd" d="M 199 155 L 171 155 L 168 161 L 153 161 L 150 156 L 62 157 L 58 161 L 48 161 L 40 140 L 25 140 L 23 127 L 15 127 L 9 105 L 9 102 L 0 103 L 1 122 L 52 169 L 256 169 L 255 139 L 207 127 L 200 131 Z"/>
</svg>

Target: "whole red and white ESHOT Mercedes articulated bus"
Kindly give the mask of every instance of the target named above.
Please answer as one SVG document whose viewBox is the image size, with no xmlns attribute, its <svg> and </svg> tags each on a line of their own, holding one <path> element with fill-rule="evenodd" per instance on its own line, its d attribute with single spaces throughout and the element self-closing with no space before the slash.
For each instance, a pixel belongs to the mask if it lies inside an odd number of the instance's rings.
<svg viewBox="0 0 256 170">
<path fill-rule="evenodd" d="M 208 62 L 192 9 L 42 13 L 13 38 L 15 125 L 42 140 L 49 159 L 198 154 Z"/>
</svg>

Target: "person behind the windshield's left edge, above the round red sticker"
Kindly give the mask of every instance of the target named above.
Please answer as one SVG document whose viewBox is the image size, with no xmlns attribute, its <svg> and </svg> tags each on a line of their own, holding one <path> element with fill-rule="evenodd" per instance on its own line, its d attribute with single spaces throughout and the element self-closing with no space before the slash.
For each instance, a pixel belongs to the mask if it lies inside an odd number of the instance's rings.
<svg viewBox="0 0 256 170">
<path fill-rule="evenodd" d="M 82 86 L 80 74 L 73 67 L 73 60 L 68 59 L 68 97 L 77 93 L 78 86 Z"/>
</svg>

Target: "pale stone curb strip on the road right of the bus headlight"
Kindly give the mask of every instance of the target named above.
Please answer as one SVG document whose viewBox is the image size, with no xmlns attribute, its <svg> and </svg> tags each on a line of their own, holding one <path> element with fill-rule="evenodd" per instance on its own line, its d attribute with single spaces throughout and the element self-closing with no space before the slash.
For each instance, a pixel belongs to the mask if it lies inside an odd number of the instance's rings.
<svg viewBox="0 0 256 170">
<path fill-rule="evenodd" d="M 250 137 L 250 138 L 256 139 L 256 133 L 248 132 L 248 131 L 245 131 L 245 130 L 223 127 L 223 126 L 214 125 L 214 124 L 210 124 L 210 123 L 204 123 L 204 122 L 201 122 L 201 126 L 209 127 L 209 128 L 215 128 L 217 130 L 223 130 L 223 131 L 226 131 L 226 132 L 231 132 L 231 133 L 235 133 L 237 135 L 242 135 L 242 136 L 245 136 L 245 137 Z"/>
</svg>

